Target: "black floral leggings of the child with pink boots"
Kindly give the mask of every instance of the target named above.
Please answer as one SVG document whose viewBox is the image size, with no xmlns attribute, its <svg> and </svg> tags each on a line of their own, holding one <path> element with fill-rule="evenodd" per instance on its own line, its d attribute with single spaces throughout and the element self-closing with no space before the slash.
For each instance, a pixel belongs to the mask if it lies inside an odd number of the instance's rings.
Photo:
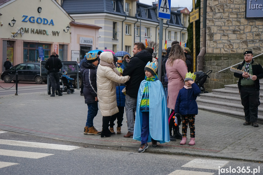
<svg viewBox="0 0 263 175">
<path fill-rule="evenodd" d="M 182 118 L 182 136 L 186 137 L 188 123 L 189 123 L 190 137 L 194 138 L 195 137 L 195 127 L 194 127 L 195 114 L 181 115 L 181 118 Z"/>
</svg>

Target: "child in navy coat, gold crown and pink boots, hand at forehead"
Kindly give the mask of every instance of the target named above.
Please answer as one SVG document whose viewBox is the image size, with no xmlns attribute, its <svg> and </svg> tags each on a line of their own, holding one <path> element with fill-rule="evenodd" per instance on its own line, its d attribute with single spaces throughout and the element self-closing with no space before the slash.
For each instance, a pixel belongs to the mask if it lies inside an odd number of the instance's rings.
<svg viewBox="0 0 263 175">
<path fill-rule="evenodd" d="M 182 89 L 179 90 L 179 94 L 176 99 L 175 104 L 175 113 L 181 114 L 182 118 L 182 141 L 180 145 L 184 145 L 186 143 L 186 135 L 187 135 L 187 128 L 189 123 L 190 128 L 190 137 L 191 140 L 188 145 L 195 144 L 195 126 L 194 120 L 195 115 L 198 113 L 198 107 L 196 103 L 196 97 L 201 93 L 201 90 L 194 83 L 196 75 L 194 73 L 188 72 L 185 75 L 184 79 L 184 86 Z"/>
</svg>

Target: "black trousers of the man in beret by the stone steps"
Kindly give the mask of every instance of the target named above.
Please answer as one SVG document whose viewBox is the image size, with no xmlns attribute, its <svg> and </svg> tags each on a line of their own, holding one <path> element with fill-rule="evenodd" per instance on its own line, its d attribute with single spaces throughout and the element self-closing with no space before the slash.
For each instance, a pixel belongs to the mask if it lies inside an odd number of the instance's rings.
<svg viewBox="0 0 263 175">
<path fill-rule="evenodd" d="M 259 91 L 255 87 L 240 87 L 241 103 L 244 107 L 245 120 L 250 122 L 257 122 L 258 119 L 258 106 Z"/>
</svg>

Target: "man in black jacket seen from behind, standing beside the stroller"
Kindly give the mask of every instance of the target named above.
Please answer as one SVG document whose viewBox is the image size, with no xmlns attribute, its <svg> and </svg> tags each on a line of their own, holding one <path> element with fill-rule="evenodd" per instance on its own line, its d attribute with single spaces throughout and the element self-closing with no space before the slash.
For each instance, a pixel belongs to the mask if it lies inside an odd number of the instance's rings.
<svg viewBox="0 0 263 175">
<path fill-rule="evenodd" d="M 46 61 L 45 68 L 48 69 L 51 80 L 52 94 L 50 96 L 55 96 L 55 89 L 57 89 L 59 96 L 62 96 L 59 86 L 59 69 L 62 68 L 62 63 L 56 57 L 56 52 L 51 53 L 50 58 Z"/>
</svg>

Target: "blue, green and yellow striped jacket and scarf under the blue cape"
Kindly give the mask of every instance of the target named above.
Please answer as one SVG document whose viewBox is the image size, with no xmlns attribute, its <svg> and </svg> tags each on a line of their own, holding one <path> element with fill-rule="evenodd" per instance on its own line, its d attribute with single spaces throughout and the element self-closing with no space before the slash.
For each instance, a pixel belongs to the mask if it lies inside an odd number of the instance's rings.
<svg viewBox="0 0 263 175">
<path fill-rule="evenodd" d="M 150 82 L 158 80 L 158 77 L 157 77 L 157 75 L 154 75 L 154 77 L 151 77 L 151 78 L 147 78 L 145 76 L 145 80 L 147 82 L 144 86 L 144 90 L 143 90 L 141 101 L 140 101 L 140 111 L 141 112 L 149 111 L 149 86 L 150 86 Z"/>
</svg>

